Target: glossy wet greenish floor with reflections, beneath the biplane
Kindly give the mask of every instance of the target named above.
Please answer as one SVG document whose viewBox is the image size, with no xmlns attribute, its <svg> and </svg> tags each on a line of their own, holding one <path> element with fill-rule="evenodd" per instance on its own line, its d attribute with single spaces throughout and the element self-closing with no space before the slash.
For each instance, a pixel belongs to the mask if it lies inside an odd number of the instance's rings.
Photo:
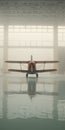
<svg viewBox="0 0 65 130">
<path fill-rule="evenodd" d="M 65 130 L 65 76 L 0 74 L 0 129 Z"/>
</svg>

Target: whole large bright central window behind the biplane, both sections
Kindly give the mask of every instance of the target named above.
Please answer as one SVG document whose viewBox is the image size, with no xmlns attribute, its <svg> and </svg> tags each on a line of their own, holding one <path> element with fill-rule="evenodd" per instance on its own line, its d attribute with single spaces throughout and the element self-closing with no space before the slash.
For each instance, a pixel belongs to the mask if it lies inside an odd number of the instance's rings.
<svg viewBox="0 0 65 130">
<path fill-rule="evenodd" d="M 33 55 L 33 60 L 53 60 L 53 34 L 53 26 L 9 25 L 8 58 L 11 60 L 29 60 L 30 56 Z M 8 66 L 18 68 L 18 66 L 11 64 Z M 45 67 L 52 68 L 53 64 L 48 64 Z"/>
</svg>

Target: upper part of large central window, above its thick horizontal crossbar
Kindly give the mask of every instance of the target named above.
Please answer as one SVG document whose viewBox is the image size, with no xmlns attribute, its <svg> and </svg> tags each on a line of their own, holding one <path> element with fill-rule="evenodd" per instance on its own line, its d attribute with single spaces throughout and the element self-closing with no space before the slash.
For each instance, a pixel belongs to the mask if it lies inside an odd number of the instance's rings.
<svg viewBox="0 0 65 130">
<path fill-rule="evenodd" d="M 53 26 L 9 26 L 9 46 L 53 46 Z"/>
</svg>

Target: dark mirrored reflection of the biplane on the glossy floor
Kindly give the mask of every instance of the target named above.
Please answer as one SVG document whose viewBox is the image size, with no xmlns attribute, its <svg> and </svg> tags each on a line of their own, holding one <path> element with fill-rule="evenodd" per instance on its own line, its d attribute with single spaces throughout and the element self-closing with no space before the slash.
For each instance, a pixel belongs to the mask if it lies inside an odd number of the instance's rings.
<svg viewBox="0 0 65 130">
<path fill-rule="evenodd" d="M 24 84 L 25 82 L 22 82 L 21 84 Z M 28 94 L 30 96 L 30 98 L 34 97 L 35 95 L 58 95 L 57 92 L 48 92 L 47 90 L 45 90 L 45 85 L 52 85 L 53 82 L 40 82 L 38 81 L 38 78 L 35 78 L 35 77 L 29 77 L 28 79 L 26 79 L 26 83 L 28 85 L 27 87 L 27 90 L 22 90 L 22 87 L 20 88 L 19 91 L 5 91 L 6 94 Z M 17 82 L 13 81 L 13 82 L 10 82 L 10 84 L 17 84 Z M 42 84 L 43 85 L 43 90 L 39 91 L 36 89 L 36 85 L 38 84 Z"/>
</svg>

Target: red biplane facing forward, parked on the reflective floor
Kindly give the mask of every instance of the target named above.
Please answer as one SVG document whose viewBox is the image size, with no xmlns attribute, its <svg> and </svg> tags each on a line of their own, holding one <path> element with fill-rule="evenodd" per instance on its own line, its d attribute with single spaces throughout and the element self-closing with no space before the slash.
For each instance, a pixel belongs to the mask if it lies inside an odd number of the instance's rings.
<svg viewBox="0 0 65 130">
<path fill-rule="evenodd" d="M 47 63 L 57 63 L 58 61 L 36 61 L 33 60 L 33 57 L 31 55 L 31 59 L 29 61 L 5 61 L 7 63 L 17 63 L 17 64 L 28 64 L 28 68 L 26 70 L 23 70 L 22 67 L 21 69 L 8 69 L 8 71 L 13 71 L 13 72 L 22 72 L 26 73 L 26 77 L 28 77 L 29 74 L 36 74 L 36 77 L 38 77 L 38 73 L 42 72 L 51 72 L 51 71 L 57 71 L 57 69 L 45 69 L 45 64 Z M 36 65 L 37 64 L 44 64 L 43 69 L 37 69 Z"/>
</svg>

